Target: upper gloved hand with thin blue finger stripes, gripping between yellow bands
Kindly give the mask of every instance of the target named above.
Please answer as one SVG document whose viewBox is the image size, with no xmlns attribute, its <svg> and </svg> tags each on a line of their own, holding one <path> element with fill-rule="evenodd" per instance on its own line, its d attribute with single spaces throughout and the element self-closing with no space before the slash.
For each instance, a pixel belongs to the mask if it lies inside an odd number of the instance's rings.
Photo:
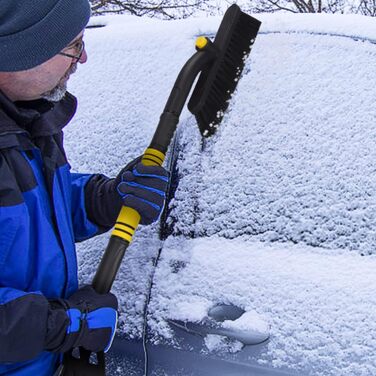
<svg viewBox="0 0 376 376">
<path fill-rule="evenodd" d="M 140 223 L 155 222 L 163 210 L 168 172 L 160 166 L 144 166 L 141 157 L 129 163 L 115 179 L 123 204 L 140 214 Z"/>
</svg>

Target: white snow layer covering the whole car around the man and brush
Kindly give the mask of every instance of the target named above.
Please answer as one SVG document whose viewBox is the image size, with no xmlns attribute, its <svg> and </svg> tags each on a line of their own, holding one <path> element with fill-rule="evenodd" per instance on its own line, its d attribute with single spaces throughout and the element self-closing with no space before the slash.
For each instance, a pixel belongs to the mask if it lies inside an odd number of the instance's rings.
<svg viewBox="0 0 376 376">
<path fill-rule="evenodd" d="M 148 309 L 155 340 L 172 338 L 167 319 L 199 321 L 234 304 L 246 313 L 230 325 L 270 325 L 260 364 L 376 374 L 375 20 L 255 17 L 260 35 L 217 134 L 202 142 L 181 116 L 174 233 L 162 243 L 157 225 L 137 231 L 113 289 L 120 332 L 141 336 L 163 246 Z M 65 143 L 74 170 L 114 176 L 148 146 L 195 37 L 213 35 L 220 19 L 93 22 L 106 26 L 85 33 Z M 107 240 L 79 245 L 81 282 Z M 205 344 L 241 350 L 218 336 Z"/>
</svg>

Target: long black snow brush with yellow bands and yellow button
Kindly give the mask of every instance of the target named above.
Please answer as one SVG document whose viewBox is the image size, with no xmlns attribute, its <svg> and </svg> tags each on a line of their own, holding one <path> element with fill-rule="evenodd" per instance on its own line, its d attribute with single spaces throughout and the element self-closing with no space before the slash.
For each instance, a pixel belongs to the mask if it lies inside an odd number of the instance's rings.
<svg viewBox="0 0 376 376">
<path fill-rule="evenodd" d="M 234 4 L 227 9 L 214 42 L 203 36 L 197 38 L 197 52 L 185 63 L 176 79 L 150 146 L 142 157 L 144 165 L 162 166 L 179 123 L 179 116 L 199 73 L 201 74 L 188 109 L 195 115 L 203 137 L 215 133 L 237 86 L 260 25 L 260 21 L 243 13 Z M 139 222 L 140 215 L 137 211 L 129 207 L 121 209 L 93 279 L 93 287 L 98 293 L 111 290 Z M 97 357 L 95 363 L 90 362 L 93 355 Z M 104 375 L 104 359 L 103 353 L 91 354 L 80 348 L 79 354 L 65 354 L 63 365 L 56 375 Z"/>
</svg>

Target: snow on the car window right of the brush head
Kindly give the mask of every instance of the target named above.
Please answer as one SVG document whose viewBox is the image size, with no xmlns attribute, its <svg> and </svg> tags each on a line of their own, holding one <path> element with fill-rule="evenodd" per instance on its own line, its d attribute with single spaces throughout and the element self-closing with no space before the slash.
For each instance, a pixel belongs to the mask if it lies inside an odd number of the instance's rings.
<svg viewBox="0 0 376 376">
<path fill-rule="evenodd" d="M 375 45 L 343 37 L 260 35 L 198 168 L 182 151 L 176 232 L 372 253 L 375 57 Z"/>
</svg>

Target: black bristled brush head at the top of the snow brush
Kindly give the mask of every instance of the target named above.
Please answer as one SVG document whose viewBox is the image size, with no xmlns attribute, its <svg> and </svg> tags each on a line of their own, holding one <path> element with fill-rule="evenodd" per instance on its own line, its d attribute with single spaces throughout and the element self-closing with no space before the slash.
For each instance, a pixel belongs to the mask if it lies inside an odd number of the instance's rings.
<svg viewBox="0 0 376 376">
<path fill-rule="evenodd" d="M 227 9 L 213 43 L 218 56 L 202 70 L 188 103 L 203 136 L 215 133 L 222 121 L 260 25 L 236 4 Z"/>
</svg>

